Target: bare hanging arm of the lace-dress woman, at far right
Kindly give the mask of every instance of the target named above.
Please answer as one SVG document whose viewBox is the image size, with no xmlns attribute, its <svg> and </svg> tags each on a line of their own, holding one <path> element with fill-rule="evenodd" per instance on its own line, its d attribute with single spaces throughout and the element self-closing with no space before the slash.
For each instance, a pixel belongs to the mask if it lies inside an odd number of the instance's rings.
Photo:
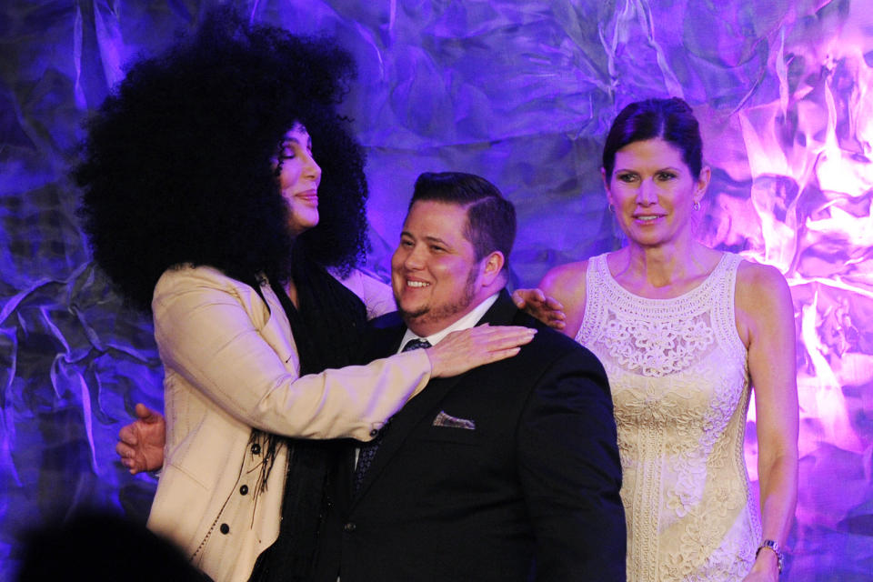
<svg viewBox="0 0 873 582">
<path fill-rule="evenodd" d="M 755 389 L 763 536 L 784 545 L 798 497 L 798 386 L 794 307 L 777 269 L 744 263 L 738 272 L 738 330 Z M 763 549 L 746 580 L 777 580 Z"/>
</svg>

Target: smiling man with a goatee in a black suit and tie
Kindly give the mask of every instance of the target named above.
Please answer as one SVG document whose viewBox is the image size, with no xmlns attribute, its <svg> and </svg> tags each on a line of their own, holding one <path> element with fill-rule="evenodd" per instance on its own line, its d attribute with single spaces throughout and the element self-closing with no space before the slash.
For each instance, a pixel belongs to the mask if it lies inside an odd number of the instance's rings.
<svg viewBox="0 0 873 582">
<path fill-rule="evenodd" d="M 431 380 L 360 449 L 336 499 L 342 582 L 625 579 L 607 377 L 513 305 L 515 232 L 515 209 L 484 178 L 416 181 L 392 259 L 399 316 L 376 320 L 370 356 L 474 325 L 539 331 L 515 357 Z"/>
</svg>

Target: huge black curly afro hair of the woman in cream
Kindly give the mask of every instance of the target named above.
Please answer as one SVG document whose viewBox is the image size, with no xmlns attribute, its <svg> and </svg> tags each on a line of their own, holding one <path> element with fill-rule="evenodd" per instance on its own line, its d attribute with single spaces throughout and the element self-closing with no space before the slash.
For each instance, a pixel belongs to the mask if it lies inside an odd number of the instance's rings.
<svg viewBox="0 0 873 582">
<path fill-rule="evenodd" d="M 95 261 L 122 295 L 148 310 L 158 277 L 183 264 L 285 281 L 296 245 L 322 266 L 356 266 L 364 156 L 336 112 L 354 75 L 331 41 L 252 25 L 229 8 L 133 65 L 88 122 L 73 170 Z M 296 240 L 273 167 L 295 123 L 322 168 L 320 223 Z"/>
</svg>

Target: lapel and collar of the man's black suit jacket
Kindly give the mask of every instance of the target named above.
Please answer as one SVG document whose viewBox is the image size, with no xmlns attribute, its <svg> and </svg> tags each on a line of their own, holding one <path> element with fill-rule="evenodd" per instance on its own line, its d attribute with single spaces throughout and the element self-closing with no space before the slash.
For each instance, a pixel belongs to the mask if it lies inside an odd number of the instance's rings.
<svg viewBox="0 0 873 582">
<path fill-rule="evenodd" d="M 497 301 L 486 312 L 485 316 L 477 322 L 477 326 L 490 324 L 492 326 L 506 326 L 512 321 L 516 314 L 517 308 L 512 303 L 506 289 L 500 292 L 497 296 Z M 396 351 L 399 342 L 406 333 L 406 327 L 401 326 L 399 334 L 396 334 L 394 349 Z M 391 418 L 385 429 L 385 435 L 382 439 L 382 444 L 379 445 L 376 457 L 373 458 L 373 464 L 366 471 L 364 482 L 361 484 L 360 490 L 354 495 L 352 507 L 355 507 L 357 500 L 366 495 L 366 490 L 379 477 L 379 474 L 391 462 L 397 450 L 403 446 L 406 437 L 412 432 L 422 419 L 427 414 L 433 414 L 437 404 L 446 397 L 446 395 L 457 386 L 469 372 L 460 376 L 452 376 L 449 378 L 432 378 L 424 390 L 418 393 L 412 400 L 406 403 L 395 416 Z"/>
</svg>

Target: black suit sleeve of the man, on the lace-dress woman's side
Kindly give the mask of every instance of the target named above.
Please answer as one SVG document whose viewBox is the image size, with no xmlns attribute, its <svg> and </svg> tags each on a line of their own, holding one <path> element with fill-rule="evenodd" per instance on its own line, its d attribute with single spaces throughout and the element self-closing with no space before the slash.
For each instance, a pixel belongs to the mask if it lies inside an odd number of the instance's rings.
<svg viewBox="0 0 873 582">
<path fill-rule="evenodd" d="M 548 366 L 517 438 L 518 470 L 537 537 L 537 580 L 625 580 L 616 425 L 596 357 L 573 350 Z"/>
</svg>

